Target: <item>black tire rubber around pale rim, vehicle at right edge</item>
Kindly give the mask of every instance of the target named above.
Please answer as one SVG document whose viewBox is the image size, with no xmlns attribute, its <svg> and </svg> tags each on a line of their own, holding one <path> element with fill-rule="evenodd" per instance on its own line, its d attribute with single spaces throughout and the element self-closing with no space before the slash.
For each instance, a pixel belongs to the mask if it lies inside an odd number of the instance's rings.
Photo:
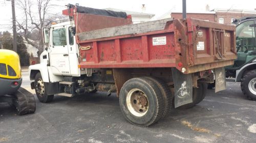
<svg viewBox="0 0 256 143">
<path fill-rule="evenodd" d="M 256 78 L 256 70 L 251 70 L 246 72 L 241 81 L 241 90 L 244 93 L 244 95 L 247 96 L 249 100 L 256 100 L 256 95 L 250 92 L 248 88 L 248 84 L 252 78 Z"/>
</svg>

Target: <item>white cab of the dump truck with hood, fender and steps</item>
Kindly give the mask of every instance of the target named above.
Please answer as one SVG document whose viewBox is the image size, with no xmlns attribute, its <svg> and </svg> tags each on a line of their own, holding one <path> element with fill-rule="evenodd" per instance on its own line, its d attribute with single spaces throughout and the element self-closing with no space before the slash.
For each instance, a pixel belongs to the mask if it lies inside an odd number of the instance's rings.
<svg viewBox="0 0 256 143">
<path fill-rule="evenodd" d="M 74 84 L 72 77 L 80 77 L 81 71 L 78 68 L 79 51 L 73 34 L 71 22 L 54 24 L 51 27 L 44 27 L 44 43 L 47 48 L 40 54 L 40 64 L 29 66 L 31 88 L 36 89 L 36 94 L 41 102 L 49 102 L 54 94 L 61 93 L 61 81 L 63 90 L 68 90 L 66 85 Z M 64 80 L 64 78 L 70 78 Z M 75 86 L 74 86 L 75 87 Z M 63 92 L 63 96 L 72 97 L 73 92 Z M 44 96 L 47 95 L 47 96 Z"/>
</svg>

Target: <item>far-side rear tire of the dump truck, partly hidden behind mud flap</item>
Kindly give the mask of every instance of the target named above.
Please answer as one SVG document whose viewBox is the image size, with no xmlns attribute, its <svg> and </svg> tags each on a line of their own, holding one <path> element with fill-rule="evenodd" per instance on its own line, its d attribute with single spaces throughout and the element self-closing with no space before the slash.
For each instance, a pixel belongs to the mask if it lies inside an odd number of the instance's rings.
<svg viewBox="0 0 256 143">
<path fill-rule="evenodd" d="M 193 88 L 193 102 L 182 105 L 178 108 L 180 109 L 188 109 L 194 107 L 196 104 L 200 103 L 206 96 L 206 84 L 198 83 L 198 88 Z"/>
</svg>

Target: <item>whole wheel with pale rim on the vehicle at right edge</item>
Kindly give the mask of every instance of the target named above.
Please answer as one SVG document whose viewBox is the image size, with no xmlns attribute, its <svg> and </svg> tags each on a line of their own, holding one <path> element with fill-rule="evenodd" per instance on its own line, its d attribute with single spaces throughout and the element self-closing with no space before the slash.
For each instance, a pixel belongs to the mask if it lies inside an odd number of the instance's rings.
<svg viewBox="0 0 256 143">
<path fill-rule="evenodd" d="M 256 70 L 246 72 L 241 81 L 242 92 L 251 100 L 256 100 Z"/>
</svg>

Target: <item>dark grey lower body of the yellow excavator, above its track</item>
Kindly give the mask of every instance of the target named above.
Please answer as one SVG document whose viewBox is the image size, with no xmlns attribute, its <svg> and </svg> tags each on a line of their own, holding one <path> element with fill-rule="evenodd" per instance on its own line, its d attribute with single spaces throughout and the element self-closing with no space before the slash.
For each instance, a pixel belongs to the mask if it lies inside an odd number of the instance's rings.
<svg viewBox="0 0 256 143">
<path fill-rule="evenodd" d="M 17 85 L 13 84 L 15 81 L 18 82 Z M 0 96 L 15 93 L 19 89 L 20 85 L 22 85 L 22 78 L 0 78 Z"/>
</svg>

